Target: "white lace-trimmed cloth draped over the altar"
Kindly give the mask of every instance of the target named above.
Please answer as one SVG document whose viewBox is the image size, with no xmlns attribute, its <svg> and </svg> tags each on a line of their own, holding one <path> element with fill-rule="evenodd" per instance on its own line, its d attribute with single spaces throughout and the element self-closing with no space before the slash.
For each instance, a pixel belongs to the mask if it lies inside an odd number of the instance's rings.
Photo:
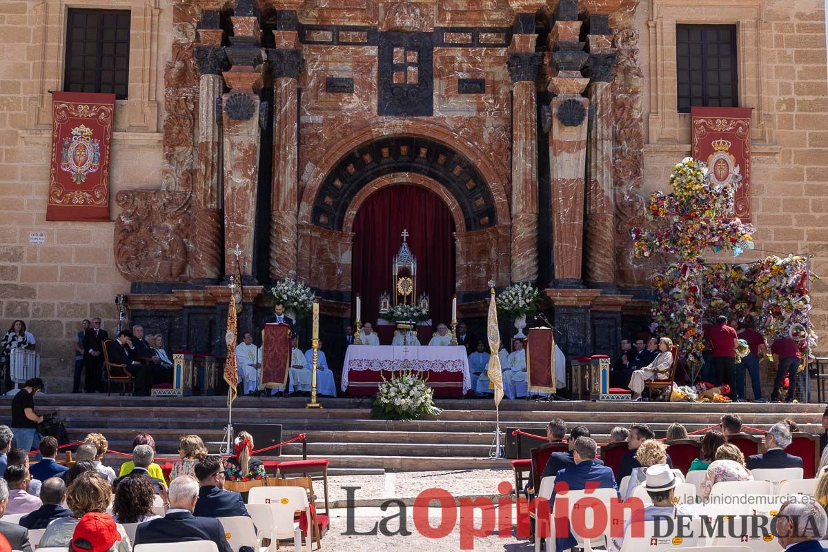
<svg viewBox="0 0 828 552">
<path fill-rule="evenodd" d="M 348 389 L 349 370 L 397 371 L 408 360 L 416 372 L 463 372 L 463 394 L 471 389 L 469 357 L 462 345 L 445 347 L 349 345 L 342 365 L 342 391 Z"/>
</svg>

